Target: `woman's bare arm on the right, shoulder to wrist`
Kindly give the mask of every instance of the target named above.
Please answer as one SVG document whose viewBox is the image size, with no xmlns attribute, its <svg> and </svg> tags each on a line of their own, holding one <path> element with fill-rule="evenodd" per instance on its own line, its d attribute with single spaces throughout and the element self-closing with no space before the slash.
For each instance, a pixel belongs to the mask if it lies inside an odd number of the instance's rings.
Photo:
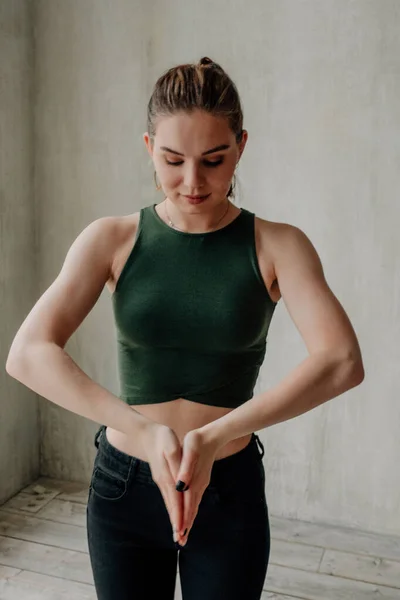
<svg viewBox="0 0 400 600">
<path fill-rule="evenodd" d="M 364 379 L 355 332 L 308 237 L 297 227 L 281 224 L 273 259 L 282 298 L 309 356 L 278 385 L 200 429 L 221 447 L 297 417 Z"/>
</svg>

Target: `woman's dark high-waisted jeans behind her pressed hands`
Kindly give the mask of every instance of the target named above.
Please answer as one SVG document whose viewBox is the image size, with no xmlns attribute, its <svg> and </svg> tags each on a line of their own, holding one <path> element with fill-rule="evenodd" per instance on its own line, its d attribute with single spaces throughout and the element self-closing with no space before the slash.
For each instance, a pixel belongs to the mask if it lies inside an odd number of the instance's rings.
<svg viewBox="0 0 400 600">
<path fill-rule="evenodd" d="M 104 426 L 95 445 L 87 533 L 98 600 L 173 600 L 178 561 L 183 600 L 261 598 L 270 527 L 256 434 L 214 462 L 180 549 L 149 463 L 112 446 Z"/>
</svg>

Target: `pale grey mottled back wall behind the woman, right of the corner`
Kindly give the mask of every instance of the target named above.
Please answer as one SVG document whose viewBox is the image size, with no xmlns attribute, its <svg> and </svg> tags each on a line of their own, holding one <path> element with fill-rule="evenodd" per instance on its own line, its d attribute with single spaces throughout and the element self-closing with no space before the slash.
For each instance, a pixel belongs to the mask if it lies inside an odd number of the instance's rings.
<svg viewBox="0 0 400 600">
<path fill-rule="evenodd" d="M 41 290 L 87 223 L 157 197 L 141 134 L 158 74 L 202 55 L 220 62 L 250 135 L 238 203 L 310 236 L 366 368 L 362 386 L 261 432 L 270 510 L 400 533 L 397 0 L 41 0 L 37 9 Z M 108 292 L 68 349 L 117 391 Z M 281 303 L 257 391 L 305 356 Z M 41 426 L 43 472 L 87 479 L 93 424 L 44 402 Z"/>
</svg>

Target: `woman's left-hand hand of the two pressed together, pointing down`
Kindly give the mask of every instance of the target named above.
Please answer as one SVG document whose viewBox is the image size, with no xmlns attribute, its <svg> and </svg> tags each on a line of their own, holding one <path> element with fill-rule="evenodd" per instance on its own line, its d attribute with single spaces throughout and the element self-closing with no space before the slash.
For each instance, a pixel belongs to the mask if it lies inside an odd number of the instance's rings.
<svg viewBox="0 0 400 600">
<path fill-rule="evenodd" d="M 158 485 L 167 508 L 174 541 L 183 528 L 183 495 L 176 490 L 181 465 L 182 447 L 178 437 L 166 425 L 152 422 L 141 433 L 141 446 L 150 464 L 151 475 Z"/>
</svg>

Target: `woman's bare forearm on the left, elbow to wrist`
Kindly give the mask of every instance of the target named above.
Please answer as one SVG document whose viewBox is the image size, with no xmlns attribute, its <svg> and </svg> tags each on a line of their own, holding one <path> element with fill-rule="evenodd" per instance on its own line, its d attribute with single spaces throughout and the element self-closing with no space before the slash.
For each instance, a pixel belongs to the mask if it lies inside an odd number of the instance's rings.
<svg viewBox="0 0 400 600">
<path fill-rule="evenodd" d="M 127 435 L 154 423 L 95 383 L 63 348 L 51 342 L 27 344 L 7 361 L 14 379 L 47 400 Z"/>
</svg>

